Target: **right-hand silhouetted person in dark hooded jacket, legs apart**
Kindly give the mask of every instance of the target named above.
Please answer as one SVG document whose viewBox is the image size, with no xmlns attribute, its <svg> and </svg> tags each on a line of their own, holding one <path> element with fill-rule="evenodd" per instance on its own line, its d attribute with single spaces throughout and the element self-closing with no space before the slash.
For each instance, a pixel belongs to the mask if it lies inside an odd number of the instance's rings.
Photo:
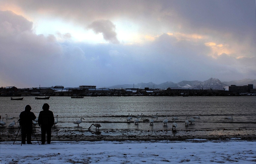
<svg viewBox="0 0 256 164">
<path fill-rule="evenodd" d="M 41 127 L 42 144 L 45 144 L 45 134 L 47 133 L 47 143 L 51 143 L 51 127 L 54 125 L 53 112 L 49 110 L 50 106 L 45 103 L 38 116 L 38 125 Z"/>
</svg>

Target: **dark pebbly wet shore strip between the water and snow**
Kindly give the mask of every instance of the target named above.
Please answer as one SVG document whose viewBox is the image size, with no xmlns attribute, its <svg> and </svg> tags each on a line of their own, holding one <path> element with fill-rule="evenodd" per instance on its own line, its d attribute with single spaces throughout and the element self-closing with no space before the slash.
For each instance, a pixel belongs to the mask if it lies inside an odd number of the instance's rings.
<svg viewBox="0 0 256 164">
<path fill-rule="evenodd" d="M 0 127 L 0 142 L 21 141 L 19 128 Z M 40 128 L 34 128 L 32 141 L 41 140 Z M 18 133 L 18 135 L 17 135 Z M 256 139 L 256 129 L 209 129 L 209 130 L 106 130 L 85 128 L 52 128 L 52 141 L 123 141 L 123 140 L 185 140 L 185 139 Z"/>
</svg>

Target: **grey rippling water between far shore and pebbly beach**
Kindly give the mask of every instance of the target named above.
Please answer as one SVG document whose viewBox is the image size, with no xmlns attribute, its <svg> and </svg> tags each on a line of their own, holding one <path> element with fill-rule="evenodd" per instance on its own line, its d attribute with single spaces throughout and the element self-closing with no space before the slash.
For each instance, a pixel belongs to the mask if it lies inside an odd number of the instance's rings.
<svg viewBox="0 0 256 164">
<path fill-rule="evenodd" d="M 100 123 L 106 130 L 165 130 L 170 129 L 172 116 L 178 117 L 177 129 L 237 129 L 253 128 L 256 125 L 256 97 L 51 97 L 49 100 L 36 100 L 35 97 L 24 97 L 23 100 L 10 100 L 10 97 L 0 97 L 0 115 L 6 125 L 18 120 L 19 114 L 26 105 L 32 107 L 32 112 L 38 117 L 44 103 L 48 103 L 54 115 L 59 115 L 57 128 L 74 128 L 74 121 L 85 118 L 79 128 L 89 128 L 92 123 Z M 145 118 L 154 119 L 153 126 L 142 120 L 135 125 L 127 123 L 130 115 L 143 113 Z M 200 119 L 185 126 L 186 116 L 194 117 L 200 114 Z M 224 119 L 231 117 L 233 120 Z M 163 126 L 165 116 L 169 122 Z M 37 125 L 38 127 L 38 125 Z"/>
</svg>

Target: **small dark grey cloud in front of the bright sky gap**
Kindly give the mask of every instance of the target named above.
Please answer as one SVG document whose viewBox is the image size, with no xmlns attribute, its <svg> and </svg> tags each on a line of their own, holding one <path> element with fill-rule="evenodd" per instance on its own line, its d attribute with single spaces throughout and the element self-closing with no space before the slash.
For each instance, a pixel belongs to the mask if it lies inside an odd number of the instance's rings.
<svg viewBox="0 0 256 164">
<path fill-rule="evenodd" d="M 110 20 L 94 21 L 87 28 L 92 29 L 96 34 L 102 33 L 106 41 L 110 41 L 114 44 L 119 43 L 116 37 L 115 25 Z"/>
</svg>

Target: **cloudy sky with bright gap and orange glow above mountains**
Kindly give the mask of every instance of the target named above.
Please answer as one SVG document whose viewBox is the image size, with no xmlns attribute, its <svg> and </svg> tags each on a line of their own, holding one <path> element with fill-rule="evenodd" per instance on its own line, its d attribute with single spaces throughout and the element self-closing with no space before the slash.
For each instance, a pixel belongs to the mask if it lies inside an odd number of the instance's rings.
<svg viewBox="0 0 256 164">
<path fill-rule="evenodd" d="M 0 0 L 0 87 L 256 79 L 255 0 Z"/>
</svg>

